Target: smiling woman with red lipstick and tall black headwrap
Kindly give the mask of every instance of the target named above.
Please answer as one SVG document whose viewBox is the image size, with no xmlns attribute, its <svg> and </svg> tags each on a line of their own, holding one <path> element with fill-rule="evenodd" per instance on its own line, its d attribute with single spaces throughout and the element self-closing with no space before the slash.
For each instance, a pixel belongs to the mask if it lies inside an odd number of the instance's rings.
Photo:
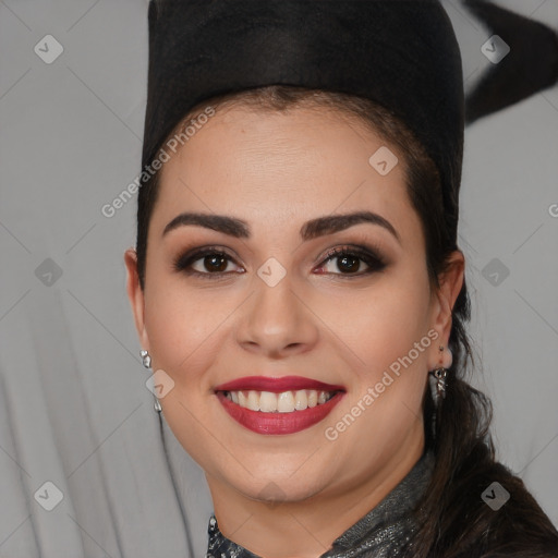
<svg viewBox="0 0 558 558">
<path fill-rule="evenodd" d="M 558 556 L 464 378 L 438 2 L 151 2 L 128 292 L 207 556 Z"/>
</svg>

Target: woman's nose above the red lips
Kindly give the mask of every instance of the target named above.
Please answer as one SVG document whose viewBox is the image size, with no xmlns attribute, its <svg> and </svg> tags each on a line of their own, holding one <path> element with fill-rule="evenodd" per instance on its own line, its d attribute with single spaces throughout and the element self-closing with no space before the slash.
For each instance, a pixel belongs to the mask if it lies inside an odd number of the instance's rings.
<svg viewBox="0 0 558 558">
<path fill-rule="evenodd" d="M 295 289 L 289 272 L 275 284 L 263 277 L 254 277 L 255 292 L 244 305 L 238 342 L 270 359 L 310 351 L 319 338 L 319 319 L 303 290 Z"/>
</svg>

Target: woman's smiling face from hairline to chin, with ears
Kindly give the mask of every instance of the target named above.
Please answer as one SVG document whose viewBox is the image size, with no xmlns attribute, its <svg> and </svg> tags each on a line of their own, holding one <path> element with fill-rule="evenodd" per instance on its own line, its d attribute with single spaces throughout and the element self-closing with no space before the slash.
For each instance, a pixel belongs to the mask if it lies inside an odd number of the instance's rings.
<svg viewBox="0 0 558 558">
<path fill-rule="evenodd" d="M 392 155 L 339 112 L 234 106 L 163 165 L 129 294 L 165 418 L 214 496 L 348 494 L 422 453 L 450 312 Z M 338 220 L 357 213 L 371 220 Z M 189 257 L 201 248 L 217 254 Z"/>
</svg>

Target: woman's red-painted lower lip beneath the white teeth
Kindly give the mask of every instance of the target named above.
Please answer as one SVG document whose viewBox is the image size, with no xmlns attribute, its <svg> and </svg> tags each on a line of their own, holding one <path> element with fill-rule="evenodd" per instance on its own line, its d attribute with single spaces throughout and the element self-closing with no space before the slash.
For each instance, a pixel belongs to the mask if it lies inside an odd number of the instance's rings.
<svg viewBox="0 0 558 558">
<path fill-rule="evenodd" d="M 264 413 L 244 409 L 228 399 L 222 391 L 217 392 L 217 398 L 225 410 L 242 426 L 257 434 L 277 435 L 293 434 L 304 430 L 323 421 L 341 401 L 344 392 L 337 392 L 331 399 L 304 411 L 291 413 Z"/>
</svg>

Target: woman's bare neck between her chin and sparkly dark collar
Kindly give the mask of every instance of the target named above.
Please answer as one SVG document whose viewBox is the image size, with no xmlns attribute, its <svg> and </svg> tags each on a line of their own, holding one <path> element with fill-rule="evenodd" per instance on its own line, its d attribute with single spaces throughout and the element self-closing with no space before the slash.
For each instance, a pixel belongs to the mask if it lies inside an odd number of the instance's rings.
<svg viewBox="0 0 558 558">
<path fill-rule="evenodd" d="M 263 558 L 316 558 L 374 509 L 412 470 L 424 451 L 420 435 L 390 456 L 381 468 L 351 485 L 323 490 L 302 501 L 270 505 L 247 498 L 207 475 L 220 532 Z"/>
</svg>

